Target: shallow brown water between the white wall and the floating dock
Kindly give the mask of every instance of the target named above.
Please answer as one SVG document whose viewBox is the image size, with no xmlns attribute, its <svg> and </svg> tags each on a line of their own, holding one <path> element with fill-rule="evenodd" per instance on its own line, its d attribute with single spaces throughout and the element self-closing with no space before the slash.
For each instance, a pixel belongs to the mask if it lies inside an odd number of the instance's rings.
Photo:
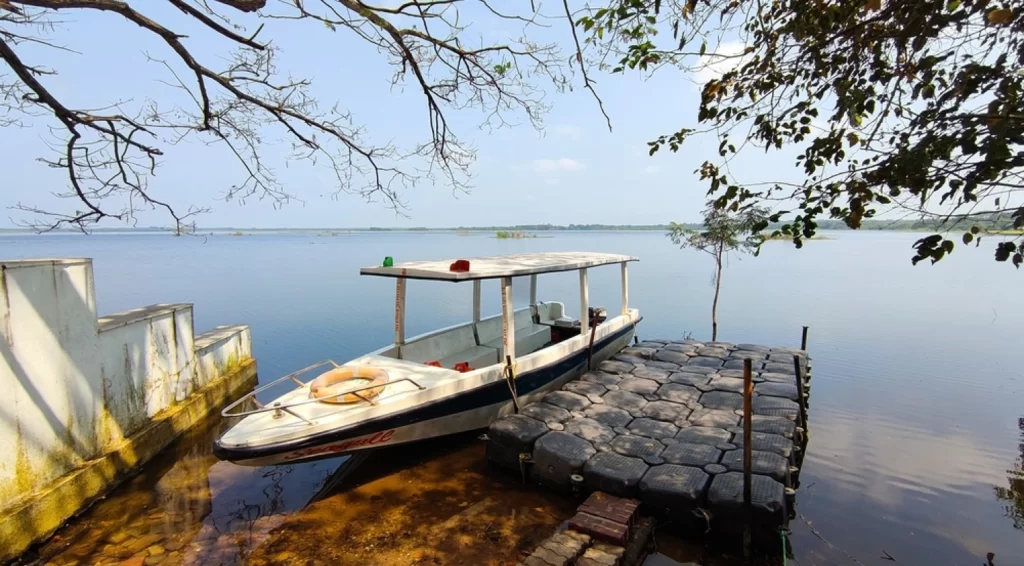
<svg viewBox="0 0 1024 566">
<path fill-rule="evenodd" d="M 249 469 L 172 449 L 27 556 L 41 564 L 512 564 L 573 502 L 488 471 L 462 435 L 337 461 Z"/>
</svg>

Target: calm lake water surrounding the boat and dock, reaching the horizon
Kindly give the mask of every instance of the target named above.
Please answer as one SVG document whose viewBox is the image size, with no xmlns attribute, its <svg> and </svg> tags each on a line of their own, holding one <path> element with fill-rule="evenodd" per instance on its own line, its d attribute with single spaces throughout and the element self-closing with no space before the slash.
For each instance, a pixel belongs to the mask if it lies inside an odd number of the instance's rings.
<svg viewBox="0 0 1024 566">
<path fill-rule="evenodd" d="M 384 256 L 404 261 L 543 251 L 632 254 L 641 260 L 630 271 L 630 302 L 644 316 L 641 339 L 692 333 L 710 340 L 713 288 L 707 255 L 680 251 L 656 232 L 544 235 L 551 237 L 497 240 L 452 232 L 0 236 L 0 257 L 93 258 L 101 313 L 189 302 L 195 303 L 197 331 L 251 324 L 264 382 L 313 361 L 341 361 L 391 342 L 393 281 L 357 274 L 358 267 L 378 264 Z M 854 560 L 890 564 L 887 555 L 899 564 L 978 565 L 991 552 L 994 564 L 1024 564 L 1024 532 L 1019 530 L 1024 528 L 1024 481 L 1018 478 L 1018 491 L 1007 492 L 1024 458 L 1024 364 L 1019 350 L 1024 274 L 996 264 L 987 248 L 957 249 L 936 266 L 912 267 L 910 246 L 916 234 L 827 235 L 829 240 L 808 242 L 803 250 L 769 243 L 759 258 L 730 260 L 719 312 L 719 340 L 729 342 L 799 346 L 801 326 L 810 326 L 811 440 L 797 496 L 799 516 L 792 525 L 795 557 L 805 565 Z M 591 304 L 617 307 L 617 271 L 591 271 Z M 563 301 L 574 311 L 578 285 L 574 273 L 542 276 L 539 297 Z M 470 286 L 411 282 L 407 333 L 469 319 L 471 292 Z M 525 286 L 514 284 L 514 294 L 517 304 L 525 304 Z M 484 312 L 497 313 L 498 285 L 485 282 L 483 295 Z M 487 499 L 501 489 L 516 489 L 486 483 L 490 480 L 472 464 L 482 459 L 482 451 L 470 438 L 435 445 L 440 454 L 421 448 L 416 455 L 398 456 L 407 460 L 372 474 L 361 487 L 314 497 L 325 483 L 333 482 L 337 462 L 276 471 L 238 468 L 209 455 L 213 434 L 186 439 L 177 452 L 67 529 L 59 542 L 49 545 L 48 554 L 55 554 L 58 562 L 60 552 L 67 552 L 68 559 L 100 556 L 76 547 L 77 537 L 87 538 L 85 533 L 97 525 L 131 523 L 135 519 L 125 519 L 125 510 L 141 506 L 146 511 L 137 514 L 133 539 L 152 536 L 139 529 L 153 530 L 154 521 L 163 525 L 160 532 L 179 537 L 164 549 L 172 558 L 147 563 L 259 563 L 283 556 L 260 548 L 285 552 L 284 541 L 301 546 L 296 540 L 303 529 L 308 533 L 319 524 L 317 517 L 337 509 L 317 507 L 330 500 L 353 509 L 376 502 L 376 507 L 364 510 L 374 509 L 380 517 L 413 513 L 403 506 L 414 506 L 419 498 L 403 499 L 401 490 L 389 488 L 388 482 L 409 488 L 416 482 L 440 482 L 453 473 L 446 467 L 470 470 L 476 475 L 465 481 L 476 482 L 479 489 L 475 495 L 463 494 L 466 500 L 449 502 L 456 506 L 453 513 L 468 503 L 467 509 L 485 514 L 473 506 L 473 497 Z M 193 467 L 182 470 L 180 463 L 186 461 Z M 425 471 L 418 472 L 421 464 Z M 201 497 L 205 503 L 179 500 L 180 485 L 197 482 L 206 490 Z M 360 491 L 365 489 L 371 492 Z M 515 493 L 521 498 L 539 496 Z M 310 498 L 323 500 L 306 507 Z M 431 508 L 447 505 L 438 502 Z M 122 507 L 112 507 L 116 505 Z M 534 506 L 524 510 L 543 507 L 534 499 L 523 505 Z M 508 536 L 517 528 L 550 532 L 561 519 L 560 506 L 546 511 L 547 519 L 538 515 L 527 520 L 523 514 L 517 524 L 492 521 L 497 526 L 488 528 L 504 528 Z M 196 550 L 203 547 L 197 542 L 237 532 L 231 525 L 240 520 L 248 525 L 248 541 L 236 540 L 231 549 L 215 555 Z M 349 521 L 369 523 L 364 526 L 371 529 L 374 518 L 364 515 Z M 275 527 L 268 538 L 266 533 Z M 351 528 L 337 535 L 357 539 L 364 562 L 414 561 L 394 554 L 398 542 L 374 542 Z M 401 528 L 411 540 L 417 539 L 411 527 Z M 162 539 L 145 539 L 154 540 Z M 129 556 L 119 543 L 108 540 L 93 545 L 93 550 Z M 379 551 L 374 551 L 375 545 Z M 194 549 L 193 558 L 172 554 L 172 547 Z M 679 552 L 700 552 L 683 549 Z"/>
</svg>

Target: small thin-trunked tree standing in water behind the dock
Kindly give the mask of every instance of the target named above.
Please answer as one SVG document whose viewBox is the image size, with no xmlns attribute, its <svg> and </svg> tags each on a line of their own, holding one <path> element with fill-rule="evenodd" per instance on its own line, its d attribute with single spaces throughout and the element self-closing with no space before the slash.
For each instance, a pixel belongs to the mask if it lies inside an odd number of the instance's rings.
<svg viewBox="0 0 1024 566">
<path fill-rule="evenodd" d="M 718 299 L 722 292 L 722 265 L 730 252 L 757 255 L 764 235 L 763 226 L 770 212 L 762 207 L 748 207 L 729 213 L 708 205 L 703 229 L 693 230 L 684 224 L 669 225 L 669 237 L 680 248 L 699 250 L 715 258 L 715 299 L 711 307 L 711 339 L 718 340 Z"/>
</svg>

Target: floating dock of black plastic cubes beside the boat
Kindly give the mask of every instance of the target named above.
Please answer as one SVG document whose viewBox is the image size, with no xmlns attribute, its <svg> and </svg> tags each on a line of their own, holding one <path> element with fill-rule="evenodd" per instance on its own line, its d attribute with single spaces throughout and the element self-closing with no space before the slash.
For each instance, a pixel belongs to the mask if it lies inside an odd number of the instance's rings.
<svg viewBox="0 0 1024 566">
<path fill-rule="evenodd" d="M 650 514 L 694 532 L 742 532 L 746 358 L 754 383 L 753 534 L 777 539 L 788 523 L 806 438 L 798 426 L 806 425 L 804 350 L 642 342 L 497 421 L 487 458 L 555 490 L 636 497 Z"/>
</svg>

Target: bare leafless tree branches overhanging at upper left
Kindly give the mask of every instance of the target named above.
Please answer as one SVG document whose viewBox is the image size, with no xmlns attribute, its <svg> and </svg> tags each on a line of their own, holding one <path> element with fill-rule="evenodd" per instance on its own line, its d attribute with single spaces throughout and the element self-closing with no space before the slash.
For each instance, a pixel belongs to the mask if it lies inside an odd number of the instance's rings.
<svg viewBox="0 0 1024 566">
<path fill-rule="evenodd" d="M 61 225 L 86 228 L 103 218 L 132 221 L 136 212 L 165 208 L 172 212 L 175 227 L 187 230 L 184 218 L 200 212 L 189 207 L 174 213 L 168 200 L 157 200 L 147 181 L 164 155 L 166 144 L 199 139 L 226 147 L 238 160 L 244 177 L 227 187 L 226 198 L 270 199 L 275 205 L 295 198 L 278 180 L 263 161 L 267 132 L 279 129 L 291 140 L 293 158 L 311 164 L 326 163 L 337 179 L 337 190 L 378 198 L 401 211 L 401 192 L 421 180 L 439 177 L 455 190 L 468 185 L 468 167 L 473 151 L 453 132 L 446 113 L 470 106 L 486 112 L 485 125 L 509 124 L 507 115 L 523 115 L 540 126 L 546 110 L 538 79 L 563 88 L 563 74 L 554 44 L 539 45 L 528 40 L 504 44 L 469 46 L 461 35 L 459 10 L 468 0 L 408 1 L 397 7 L 374 6 L 359 0 L 283 0 L 268 5 L 265 0 L 168 0 L 188 16 L 174 27 L 146 12 L 153 4 L 132 0 L 9 0 L 12 9 L 0 11 L 0 39 L 5 38 L 4 62 L 14 71 L 13 81 L 0 75 L 0 94 L 7 100 L 0 124 L 23 124 L 23 117 L 52 116 L 66 135 L 56 159 L 44 160 L 68 173 L 71 190 L 84 210 L 68 214 L 44 214 L 33 205 L 22 210 L 43 214 L 33 227 L 46 229 Z M 530 8 L 499 12 L 490 5 L 485 13 L 521 23 L 538 24 Z M 184 104 L 166 105 L 154 100 L 141 103 L 122 101 L 101 115 L 76 108 L 74 96 L 55 95 L 48 90 L 44 66 L 18 58 L 20 41 L 38 40 L 47 45 L 59 30 L 50 24 L 53 14 L 95 11 L 118 14 L 151 37 L 159 38 L 169 58 L 147 55 L 165 67 L 173 80 L 165 84 L 186 94 Z M 249 14 L 247 21 L 262 21 L 254 33 L 234 26 L 227 14 Z M 347 31 L 378 47 L 387 62 L 396 69 L 394 82 L 407 77 L 422 92 L 427 110 L 429 141 L 401 150 L 396 145 L 377 145 L 365 139 L 352 117 L 330 104 L 324 105 L 303 79 L 282 79 L 275 68 L 275 49 L 268 38 L 256 39 L 264 25 L 275 19 L 309 20 L 332 31 Z M 409 19 L 419 25 L 409 25 Z M 70 19 L 69 21 L 73 21 Z M 73 24 L 66 24 L 73 25 Z M 185 30 L 183 26 L 195 29 Z M 175 28 L 182 27 L 181 30 Z M 33 29 L 30 34 L 15 32 Z M 215 69 L 204 62 L 205 53 L 189 47 L 188 38 L 210 33 L 228 41 L 233 52 L 227 66 Z M 262 36 L 261 36 L 262 37 Z M 35 55 L 35 52 L 34 52 Z M 218 53 L 219 56 L 219 53 Z M 187 80 L 182 80 L 187 79 Z M 16 95 L 16 96 L 14 96 Z M 27 96 L 25 96 L 27 95 Z M 193 105 L 189 105 L 193 104 Z M 319 110 L 329 106 L 330 110 Z M 54 133 L 60 136 L 59 133 Z M 144 141 L 143 141 L 144 140 Z"/>
</svg>

